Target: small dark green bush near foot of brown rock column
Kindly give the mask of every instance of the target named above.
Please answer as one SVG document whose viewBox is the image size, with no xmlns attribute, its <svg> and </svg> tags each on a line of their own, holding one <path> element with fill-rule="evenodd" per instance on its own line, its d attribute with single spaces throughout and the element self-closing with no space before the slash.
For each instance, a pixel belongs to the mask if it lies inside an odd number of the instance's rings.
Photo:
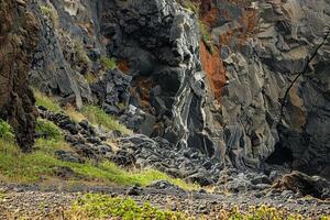
<svg viewBox="0 0 330 220">
<path fill-rule="evenodd" d="M 57 125 L 53 122 L 37 119 L 35 124 L 35 131 L 40 135 L 44 136 L 45 139 L 61 141 L 62 140 L 62 132 Z"/>
</svg>

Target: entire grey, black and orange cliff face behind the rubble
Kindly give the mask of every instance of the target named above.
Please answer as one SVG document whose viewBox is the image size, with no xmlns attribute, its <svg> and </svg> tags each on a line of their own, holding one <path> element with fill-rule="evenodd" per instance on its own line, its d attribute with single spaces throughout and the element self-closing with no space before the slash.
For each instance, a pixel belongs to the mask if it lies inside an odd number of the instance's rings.
<svg viewBox="0 0 330 220">
<path fill-rule="evenodd" d="M 33 1 L 42 28 L 32 85 L 64 105 L 97 103 L 176 151 L 329 177 L 329 41 L 278 123 L 286 88 L 330 23 L 329 2 L 190 3 L 199 12 L 175 0 Z"/>
</svg>

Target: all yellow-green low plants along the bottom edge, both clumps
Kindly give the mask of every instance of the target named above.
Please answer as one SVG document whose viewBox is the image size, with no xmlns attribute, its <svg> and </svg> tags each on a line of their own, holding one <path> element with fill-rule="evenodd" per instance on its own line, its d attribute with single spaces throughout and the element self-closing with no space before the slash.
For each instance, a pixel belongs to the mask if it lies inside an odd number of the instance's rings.
<svg viewBox="0 0 330 220">
<path fill-rule="evenodd" d="M 131 198 L 87 194 L 77 199 L 77 201 L 65 212 L 69 219 L 208 219 L 208 216 L 189 216 L 188 213 L 160 210 L 150 204 L 142 206 Z M 286 209 L 276 209 L 270 206 L 250 207 L 249 210 L 240 210 L 237 206 L 232 209 L 221 209 L 217 213 L 218 219 L 222 220 L 302 220 L 304 217 L 298 213 L 289 212 Z M 319 218 L 329 220 L 329 216 Z"/>
</svg>

